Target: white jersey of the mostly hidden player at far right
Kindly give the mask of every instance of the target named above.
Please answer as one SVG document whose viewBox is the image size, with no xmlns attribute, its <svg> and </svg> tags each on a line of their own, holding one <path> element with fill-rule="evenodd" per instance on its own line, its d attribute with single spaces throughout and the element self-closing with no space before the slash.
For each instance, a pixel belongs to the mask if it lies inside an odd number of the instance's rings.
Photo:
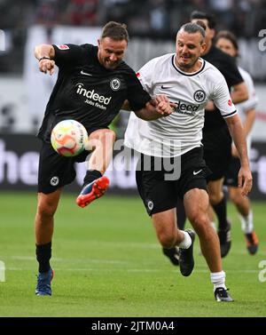
<svg viewBox="0 0 266 335">
<path fill-rule="evenodd" d="M 248 92 L 248 99 L 246 101 L 240 102 L 239 104 L 236 104 L 236 108 L 238 109 L 239 112 L 239 117 L 244 124 L 246 122 L 246 113 L 248 110 L 256 108 L 258 104 L 258 98 L 254 89 L 254 82 L 252 77 L 249 75 L 244 68 L 239 67 L 239 72 L 246 84 L 247 87 L 247 92 Z M 250 148 L 251 148 L 251 135 L 252 132 L 249 132 L 246 136 L 246 145 L 247 145 L 247 153 L 250 153 Z"/>
</svg>

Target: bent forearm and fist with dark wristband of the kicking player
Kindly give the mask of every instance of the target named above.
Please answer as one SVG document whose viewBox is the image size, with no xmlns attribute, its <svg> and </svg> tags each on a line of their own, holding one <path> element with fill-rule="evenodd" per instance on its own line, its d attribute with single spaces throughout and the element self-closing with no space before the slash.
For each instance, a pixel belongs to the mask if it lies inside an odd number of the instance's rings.
<svg viewBox="0 0 266 335">
<path fill-rule="evenodd" d="M 46 74 L 52 75 L 54 73 L 54 48 L 51 44 L 41 44 L 35 47 L 35 58 L 39 60 L 39 69 Z"/>
</svg>

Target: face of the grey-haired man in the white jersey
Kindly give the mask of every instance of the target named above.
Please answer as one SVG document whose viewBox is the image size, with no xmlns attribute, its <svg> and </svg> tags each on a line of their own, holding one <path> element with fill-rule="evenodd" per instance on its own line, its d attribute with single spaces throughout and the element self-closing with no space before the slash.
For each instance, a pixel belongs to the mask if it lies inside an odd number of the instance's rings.
<svg viewBox="0 0 266 335">
<path fill-rule="evenodd" d="M 180 30 L 176 36 L 176 62 L 180 68 L 192 69 L 204 52 L 206 44 L 202 43 L 200 32 L 189 34 Z"/>
</svg>

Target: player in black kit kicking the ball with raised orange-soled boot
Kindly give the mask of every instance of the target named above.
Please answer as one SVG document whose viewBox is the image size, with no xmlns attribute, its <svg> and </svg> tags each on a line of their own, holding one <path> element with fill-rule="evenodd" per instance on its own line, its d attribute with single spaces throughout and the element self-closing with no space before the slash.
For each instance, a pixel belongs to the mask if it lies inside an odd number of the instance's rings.
<svg viewBox="0 0 266 335">
<path fill-rule="evenodd" d="M 75 178 L 74 163 L 84 162 L 88 152 L 75 157 L 59 156 L 51 148 L 52 128 L 65 119 L 82 123 L 88 134 L 87 148 L 92 151 L 81 194 L 80 207 L 104 195 L 108 179 L 103 176 L 113 154 L 115 133 L 108 129 L 124 100 L 138 117 L 153 120 L 168 116 L 172 105 L 166 97 L 152 98 L 144 91 L 133 69 L 122 61 L 128 46 L 126 26 L 108 22 L 98 39 L 91 44 L 41 44 L 35 58 L 43 73 L 59 76 L 48 101 L 38 137 L 43 140 L 38 174 L 38 203 L 35 216 L 36 259 L 39 275 L 36 295 L 51 295 L 53 270 L 50 265 L 53 216 L 62 188 Z"/>
</svg>

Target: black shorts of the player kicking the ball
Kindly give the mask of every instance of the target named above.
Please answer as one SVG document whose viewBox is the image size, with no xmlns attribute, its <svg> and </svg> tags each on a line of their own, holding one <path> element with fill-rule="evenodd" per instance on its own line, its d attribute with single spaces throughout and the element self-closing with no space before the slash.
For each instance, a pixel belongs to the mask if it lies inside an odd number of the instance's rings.
<svg viewBox="0 0 266 335">
<path fill-rule="evenodd" d="M 43 142 L 39 158 L 38 192 L 49 194 L 75 179 L 74 163 L 86 161 L 90 152 L 74 157 L 60 156 L 50 143 Z"/>
</svg>

